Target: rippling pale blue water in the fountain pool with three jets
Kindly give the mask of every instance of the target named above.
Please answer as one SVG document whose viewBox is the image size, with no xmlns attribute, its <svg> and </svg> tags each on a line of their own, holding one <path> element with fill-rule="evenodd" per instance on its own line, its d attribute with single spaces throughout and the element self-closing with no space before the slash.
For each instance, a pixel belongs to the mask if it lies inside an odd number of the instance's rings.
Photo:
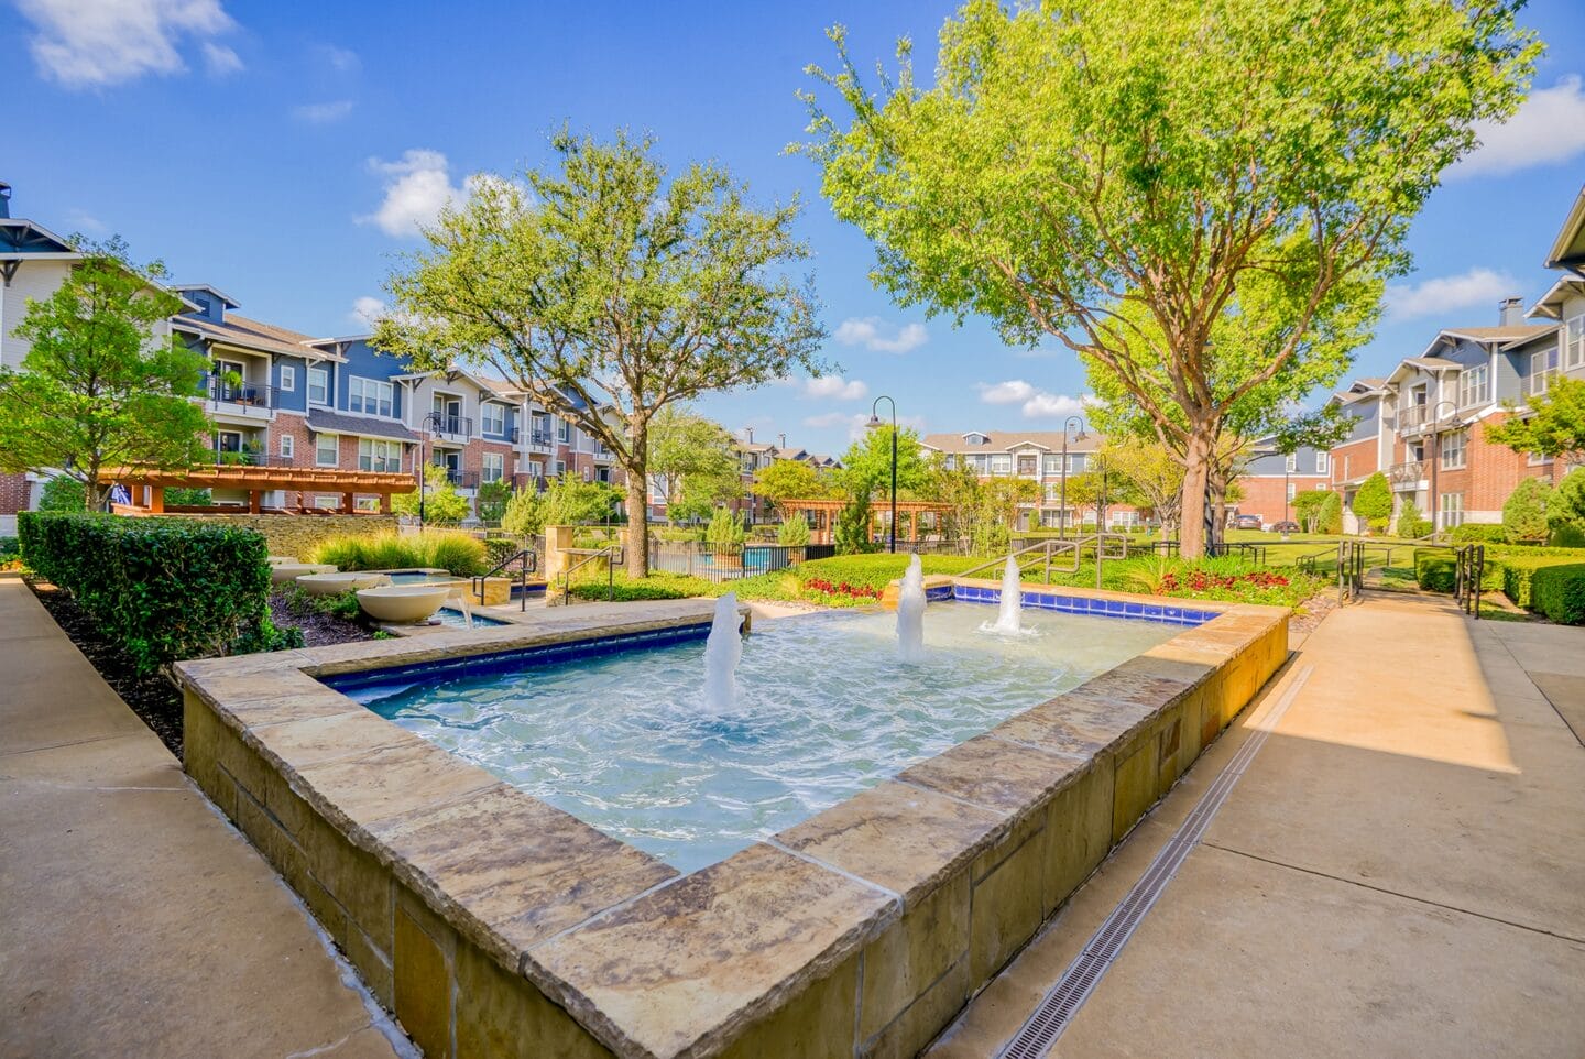
<svg viewBox="0 0 1585 1059">
<path fill-rule="evenodd" d="M 930 604 L 929 661 L 896 658 L 891 614 L 761 621 L 739 702 L 702 705 L 704 642 L 444 680 L 369 702 L 425 739 L 682 870 L 713 864 L 972 739 L 1181 631 Z"/>
</svg>

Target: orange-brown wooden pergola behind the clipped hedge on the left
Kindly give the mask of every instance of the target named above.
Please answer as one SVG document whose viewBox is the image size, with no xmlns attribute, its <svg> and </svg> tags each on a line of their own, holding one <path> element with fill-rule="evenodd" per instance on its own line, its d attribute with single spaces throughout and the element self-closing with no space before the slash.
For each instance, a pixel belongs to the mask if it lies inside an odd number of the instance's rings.
<svg viewBox="0 0 1585 1059">
<path fill-rule="evenodd" d="M 217 465 L 184 469 L 114 468 L 105 477 L 125 485 L 130 504 L 114 504 L 120 515 L 160 515 L 166 512 L 214 512 L 216 507 L 166 507 L 166 488 L 239 490 L 247 493 L 249 514 L 311 515 L 325 509 L 304 506 L 303 495 L 341 498 L 341 514 L 358 514 L 357 496 L 379 496 L 379 510 L 390 512 L 393 493 L 411 493 L 418 484 L 411 474 L 385 471 L 346 471 L 341 468 L 281 468 Z M 265 493 L 296 496 L 295 506 L 265 507 Z M 225 507 L 220 506 L 220 510 Z"/>
</svg>

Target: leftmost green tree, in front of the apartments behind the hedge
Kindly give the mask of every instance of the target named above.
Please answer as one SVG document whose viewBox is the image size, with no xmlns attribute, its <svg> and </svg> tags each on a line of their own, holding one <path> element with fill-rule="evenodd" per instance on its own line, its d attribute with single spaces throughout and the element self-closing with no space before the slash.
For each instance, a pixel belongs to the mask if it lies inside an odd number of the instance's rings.
<svg viewBox="0 0 1585 1059">
<path fill-rule="evenodd" d="M 204 358 L 165 333 L 182 301 L 162 279 L 163 265 L 133 265 L 111 239 L 29 301 L 14 335 L 32 347 L 21 371 L 0 368 L 0 471 L 55 469 L 98 510 L 114 484 L 103 471 L 204 457 L 209 420 L 192 400 Z"/>
</svg>

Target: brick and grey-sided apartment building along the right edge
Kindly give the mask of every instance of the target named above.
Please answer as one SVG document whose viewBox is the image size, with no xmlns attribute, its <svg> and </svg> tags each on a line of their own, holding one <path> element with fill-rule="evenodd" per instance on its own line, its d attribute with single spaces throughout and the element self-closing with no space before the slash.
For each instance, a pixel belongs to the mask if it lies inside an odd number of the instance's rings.
<svg viewBox="0 0 1585 1059">
<path fill-rule="evenodd" d="M 1330 488 L 1342 493 L 1344 530 L 1358 487 L 1384 471 L 1395 517 L 1412 504 L 1438 530 L 1498 523 L 1503 503 L 1526 477 L 1560 480 L 1569 468 L 1487 439 L 1560 376 L 1585 379 L 1585 190 L 1577 197 L 1547 268 L 1564 271 L 1533 306 L 1506 298 L 1491 327 L 1442 328 L 1385 379 L 1358 379 L 1333 395 L 1354 417 L 1331 450 Z"/>
</svg>

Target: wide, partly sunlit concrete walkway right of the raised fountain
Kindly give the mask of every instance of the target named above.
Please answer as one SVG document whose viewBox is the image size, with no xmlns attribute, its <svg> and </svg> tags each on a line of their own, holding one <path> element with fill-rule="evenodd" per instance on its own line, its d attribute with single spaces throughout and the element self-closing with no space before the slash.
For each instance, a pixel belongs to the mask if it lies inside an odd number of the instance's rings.
<svg viewBox="0 0 1585 1059">
<path fill-rule="evenodd" d="M 1585 629 L 1330 615 L 930 1049 L 994 1056 L 1292 683 L 1052 1056 L 1585 1054 Z"/>
</svg>

